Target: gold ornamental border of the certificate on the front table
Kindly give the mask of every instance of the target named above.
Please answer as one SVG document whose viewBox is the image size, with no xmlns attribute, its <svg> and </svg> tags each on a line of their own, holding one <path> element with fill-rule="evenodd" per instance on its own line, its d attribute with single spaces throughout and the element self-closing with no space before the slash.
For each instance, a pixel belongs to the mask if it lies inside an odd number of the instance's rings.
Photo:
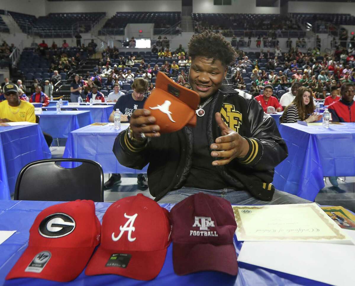
<svg viewBox="0 0 355 286">
<path fill-rule="evenodd" d="M 308 207 L 310 209 L 312 209 L 315 214 L 329 227 L 329 229 L 334 233 L 334 236 L 300 236 L 300 237 L 286 237 L 286 236 L 251 236 L 249 234 L 246 234 L 245 229 L 243 227 L 243 223 L 241 221 L 241 217 L 239 215 L 238 210 L 242 210 L 242 209 L 264 209 L 267 207 L 270 207 L 272 205 L 265 205 L 265 206 L 233 206 L 233 212 L 234 212 L 234 217 L 235 217 L 235 221 L 237 223 L 237 230 L 236 232 L 240 232 L 240 234 L 242 234 L 245 237 L 248 237 L 248 240 L 261 240 L 261 238 L 263 240 L 276 240 L 276 239 L 280 239 L 280 240 L 320 240 L 320 239 L 326 239 L 326 240 L 343 240 L 346 239 L 346 237 L 340 232 L 341 229 L 334 225 L 332 222 L 330 222 L 328 220 L 328 218 L 326 216 L 328 216 L 327 214 L 325 214 L 323 212 L 323 210 L 319 207 L 317 207 L 314 203 L 313 204 L 302 204 L 302 205 L 288 205 L 288 207 L 293 207 L 295 209 L 301 208 L 301 207 Z M 239 229 L 239 230 L 238 230 Z"/>
</svg>

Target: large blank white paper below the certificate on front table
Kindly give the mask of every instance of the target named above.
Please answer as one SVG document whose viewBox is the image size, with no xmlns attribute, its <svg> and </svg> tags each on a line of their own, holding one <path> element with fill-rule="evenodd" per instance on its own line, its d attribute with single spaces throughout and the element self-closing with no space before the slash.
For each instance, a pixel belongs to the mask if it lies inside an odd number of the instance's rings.
<svg viewBox="0 0 355 286">
<path fill-rule="evenodd" d="M 248 241 L 238 261 L 331 285 L 355 285 L 355 245 Z"/>
</svg>

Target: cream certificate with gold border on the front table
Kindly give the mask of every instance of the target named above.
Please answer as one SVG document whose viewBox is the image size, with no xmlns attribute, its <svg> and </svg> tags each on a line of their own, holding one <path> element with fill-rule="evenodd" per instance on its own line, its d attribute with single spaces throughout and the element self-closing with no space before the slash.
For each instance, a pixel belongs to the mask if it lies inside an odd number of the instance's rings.
<svg viewBox="0 0 355 286">
<path fill-rule="evenodd" d="M 316 204 L 233 206 L 239 241 L 350 241 Z"/>
</svg>

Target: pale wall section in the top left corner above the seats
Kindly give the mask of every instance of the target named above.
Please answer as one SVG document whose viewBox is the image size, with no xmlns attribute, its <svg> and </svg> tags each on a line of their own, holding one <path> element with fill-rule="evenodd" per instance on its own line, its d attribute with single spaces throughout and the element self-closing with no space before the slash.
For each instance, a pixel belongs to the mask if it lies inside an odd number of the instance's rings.
<svg viewBox="0 0 355 286">
<path fill-rule="evenodd" d="M 0 9 L 24 14 L 45 16 L 46 0 L 0 0 Z"/>
</svg>

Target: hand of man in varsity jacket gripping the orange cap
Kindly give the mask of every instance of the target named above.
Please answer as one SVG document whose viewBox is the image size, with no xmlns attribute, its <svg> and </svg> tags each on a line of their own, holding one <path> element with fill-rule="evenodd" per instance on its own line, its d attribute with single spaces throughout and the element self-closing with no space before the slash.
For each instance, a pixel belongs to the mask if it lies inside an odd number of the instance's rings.
<svg viewBox="0 0 355 286">
<path fill-rule="evenodd" d="M 136 109 L 131 116 L 130 126 L 133 136 L 137 140 L 142 139 L 142 133 L 146 137 L 159 137 L 159 125 L 155 124 L 155 117 L 151 116 L 151 112 L 147 109 Z"/>
</svg>

